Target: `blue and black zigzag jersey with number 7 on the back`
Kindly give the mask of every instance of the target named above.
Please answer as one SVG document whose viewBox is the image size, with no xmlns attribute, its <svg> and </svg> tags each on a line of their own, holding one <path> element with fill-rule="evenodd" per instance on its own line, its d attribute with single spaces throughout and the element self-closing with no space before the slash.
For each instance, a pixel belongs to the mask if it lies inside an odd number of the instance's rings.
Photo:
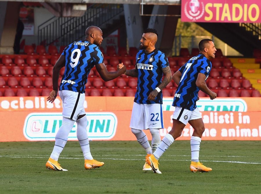
<svg viewBox="0 0 261 194">
<path fill-rule="evenodd" d="M 207 79 L 211 67 L 210 60 L 201 53 L 192 57 L 180 67 L 179 71 L 182 73 L 182 76 L 172 105 L 193 111 L 197 107 L 196 101 L 199 91 L 199 88 L 196 86 L 197 75 L 198 73 L 203 73 Z"/>
</svg>

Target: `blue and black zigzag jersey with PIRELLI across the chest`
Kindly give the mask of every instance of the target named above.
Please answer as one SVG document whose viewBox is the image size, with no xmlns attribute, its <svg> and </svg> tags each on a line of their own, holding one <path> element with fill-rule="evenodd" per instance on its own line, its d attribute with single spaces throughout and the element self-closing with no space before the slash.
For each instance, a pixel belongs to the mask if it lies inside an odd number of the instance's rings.
<svg viewBox="0 0 261 194">
<path fill-rule="evenodd" d="M 162 81 L 162 69 L 169 66 L 168 59 L 164 53 L 157 48 L 150 53 L 145 49 L 139 50 L 136 55 L 136 65 L 138 69 L 138 83 L 134 102 L 139 104 L 162 104 L 162 91 L 155 100 L 148 100 L 148 95 Z"/>
</svg>

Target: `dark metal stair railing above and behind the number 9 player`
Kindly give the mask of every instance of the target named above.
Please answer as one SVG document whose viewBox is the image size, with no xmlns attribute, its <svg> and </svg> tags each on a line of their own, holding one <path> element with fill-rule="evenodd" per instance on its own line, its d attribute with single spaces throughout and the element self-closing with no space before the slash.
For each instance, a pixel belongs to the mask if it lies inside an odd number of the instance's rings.
<svg viewBox="0 0 261 194">
<path fill-rule="evenodd" d="M 123 11 L 122 5 L 93 4 L 81 17 L 52 17 L 38 27 L 38 44 L 68 45 L 85 37 L 88 26 L 106 26 Z"/>
</svg>

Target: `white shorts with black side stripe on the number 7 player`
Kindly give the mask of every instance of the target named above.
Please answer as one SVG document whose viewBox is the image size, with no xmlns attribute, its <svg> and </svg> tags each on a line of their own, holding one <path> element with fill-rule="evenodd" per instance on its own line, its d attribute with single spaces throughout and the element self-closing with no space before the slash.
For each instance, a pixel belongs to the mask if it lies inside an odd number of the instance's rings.
<svg viewBox="0 0 261 194">
<path fill-rule="evenodd" d="M 182 107 L 175 107 L 172 118 L 184 123 L 185 125 L 190 121 L 198 118 L 202 118 L 199 109 L 196 108 L 193 111 L 187 110 Z"/>
</svg>

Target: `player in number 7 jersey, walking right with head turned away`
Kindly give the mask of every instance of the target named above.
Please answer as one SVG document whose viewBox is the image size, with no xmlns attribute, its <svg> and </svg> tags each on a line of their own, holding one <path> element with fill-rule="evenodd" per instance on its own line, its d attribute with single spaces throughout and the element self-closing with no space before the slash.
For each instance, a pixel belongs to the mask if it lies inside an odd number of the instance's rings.
<svg viewBox="0 0 261 194">
<path fill-rule="evenodd" d="M 164 136 L 160 146 L 154 154 L 147 159 L 147 162 L 151 165 L 154 173 L 161 174 L 158 166 L 158 159 L 174 140 L 182 134 L 182 130 L 187 123 L 194 128 L 190 140 L 190 170 L 192 172 L 208 172 L 212 170 L 199 161 L 200 142 L 205 127 L 201 114 L 196 106 L 196 101 L 199 100 L 199 97 L 197 96 L 199 90 L 208 94 L 211 100 L 217 97 L 217 94 L 211 91 L 206 85 L 206 79 L 208 78 L 212 67 L 209 59 L 215 58 L 215 52 L 217 50 L 211 39 L 202 39 L 198 47 L 200 53 L 188 60 L 172 76 L 172 79 L 178 85 L 172 104 L 175 106 L 172 119 L 173 126 L 171 131 Z"/>
</svg>

